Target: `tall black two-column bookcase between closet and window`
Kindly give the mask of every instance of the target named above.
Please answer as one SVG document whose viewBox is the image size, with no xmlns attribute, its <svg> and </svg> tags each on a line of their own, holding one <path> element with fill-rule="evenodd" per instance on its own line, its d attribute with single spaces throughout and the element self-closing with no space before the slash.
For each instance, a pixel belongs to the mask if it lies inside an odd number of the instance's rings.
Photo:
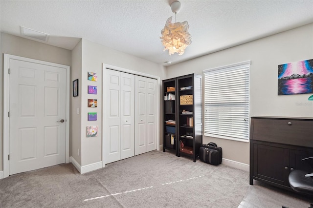
<svg viewBox="0 0 313 208">
<path fill-rule="evenodd" d="M 163 151 L 166 149 L 174 150 L 176 156 L 188 156 L 196 162 L 199 156 L 199 149 L 202 144 L 202 76 L 197 74 L 189 74 L 168 80 L 163 80 L 163 95 L 169 93 L 175 95 L 175 100 L 163 99 Z M 167 87 L 175 87 L 175 91 L 167 91 Z M 188 89 L 181 89 L 181 87 L 189 87 Z M 190 104 L 180 104 L 180 96 L 191 96 Z M 182 113 L 183 110 L 192 113 Z M 195 117 L 197 115 L 197 117 Z M 200 116 L 200 117 L 199 117 Z M 198 118 L 199 117 L 199 118 Z M 192 119 L 193 126 L 187 125 L 187 118 Z M 174 120 L 175 134 L 169 132 L 166 121 Z M 190 121 L 190 120 L 188 120 Z M 171 125 L 172 126 L 172 125 Z M 173 130 L 173 129 L 172 129 Z M 182 137 L 183 135 L 192 135 L 193 137 Z M 170 135 L 175 135 L 175 144 L 170 144 Z M 184 143 L 185 147 L 190 147 L 192 153 L 180 151 L 180 143 Z"/>
</svg>

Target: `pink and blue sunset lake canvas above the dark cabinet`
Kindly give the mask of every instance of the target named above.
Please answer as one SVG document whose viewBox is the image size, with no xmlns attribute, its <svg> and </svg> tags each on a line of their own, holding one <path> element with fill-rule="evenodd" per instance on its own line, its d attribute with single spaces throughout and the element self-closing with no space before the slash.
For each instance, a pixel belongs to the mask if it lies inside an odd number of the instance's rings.
<svg viewBox="0 0 313 208">
<path fill-rule="evenodd" d="M 313 59 L 278 65 L 278 95 L 313 93 Z"/>
</svg>

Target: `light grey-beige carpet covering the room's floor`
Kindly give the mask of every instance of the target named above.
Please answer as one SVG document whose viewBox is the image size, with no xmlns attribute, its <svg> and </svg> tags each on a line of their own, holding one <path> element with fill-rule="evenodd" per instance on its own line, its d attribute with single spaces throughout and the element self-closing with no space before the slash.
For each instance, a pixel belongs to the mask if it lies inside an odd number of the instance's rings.
<svg viewBox="0 0 313 208">
<path fill-rule="evenodd" d="M 248 208 L 262 207 L 270 191 L 250 186 L 246 171 L 152 151 L 86 174 L 63 164 L 9 176 L 0 180 L 0 207 Z M 286 198 L 291 201 L 286 206 L 309 201 Z"/>
</svg>

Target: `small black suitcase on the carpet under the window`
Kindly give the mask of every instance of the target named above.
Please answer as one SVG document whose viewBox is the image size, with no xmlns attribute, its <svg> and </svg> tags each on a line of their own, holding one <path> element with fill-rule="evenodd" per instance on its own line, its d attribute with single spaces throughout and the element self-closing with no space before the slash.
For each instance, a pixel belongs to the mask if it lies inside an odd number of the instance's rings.
<svg viewBox="0 0 313 208">
<path fill-rule="evenodd" d="M 199 157 L 204 163 L 219 165 L 222 163 L 222 147 L 213 142 L 207 145 L 203 144 L 200 146 Z"/>
</svg>

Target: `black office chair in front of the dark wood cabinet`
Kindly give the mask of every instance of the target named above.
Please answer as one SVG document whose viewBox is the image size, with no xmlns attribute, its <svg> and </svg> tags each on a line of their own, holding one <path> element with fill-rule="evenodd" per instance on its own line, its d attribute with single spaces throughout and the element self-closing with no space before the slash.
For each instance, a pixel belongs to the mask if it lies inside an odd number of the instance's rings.
<svg viewBox="0 0 313 208">
<path fill-rule="evenodd" d="M 313 157 L 302 159 L 302 161 L 312 160 Z M 300 193 L 313 195 L 313 173 L 304 170 L 292 170 L 289 174 L 290 187 Z M 313 204 L 311 204 L 313 208 Z"/>
</svg>

